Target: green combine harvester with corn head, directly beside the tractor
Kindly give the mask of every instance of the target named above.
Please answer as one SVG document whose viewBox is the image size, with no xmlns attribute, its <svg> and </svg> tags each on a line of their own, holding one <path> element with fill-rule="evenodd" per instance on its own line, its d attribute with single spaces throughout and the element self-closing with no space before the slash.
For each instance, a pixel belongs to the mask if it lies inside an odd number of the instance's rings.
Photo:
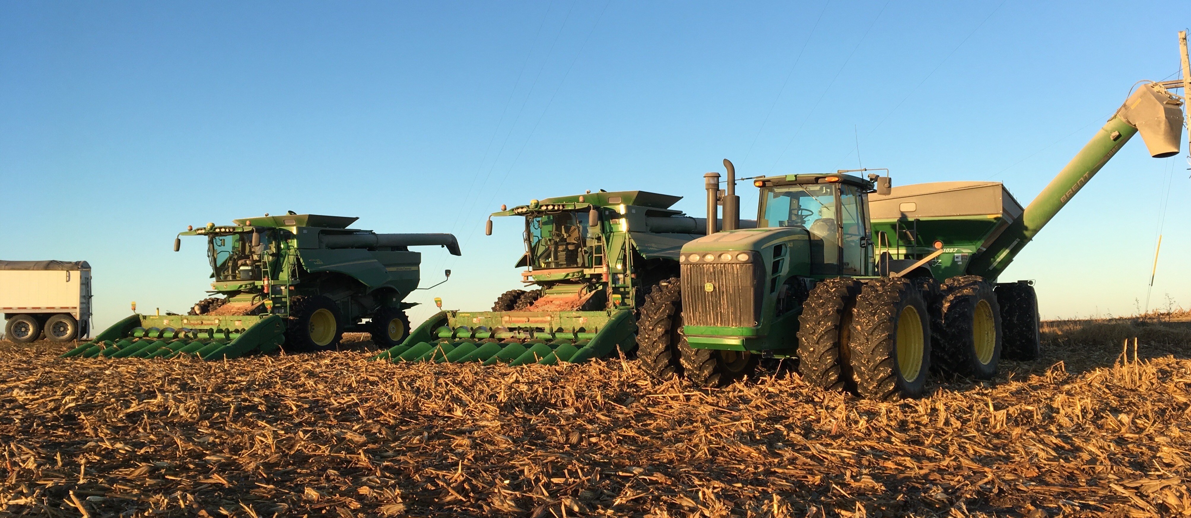
<svg viewBox="0 0 1191 518">
<path fill-rule="evenodd" d="M 676 286 L 679 249 L 706 224 L 669 208 L 680 199 L 601 191 L 501 207 L 492 216 L 525 218 L 524 289 L 492 311 L 439 312 L 376 358 L 553 364 L 631 352 L 642 300 Z"/>
</svg>

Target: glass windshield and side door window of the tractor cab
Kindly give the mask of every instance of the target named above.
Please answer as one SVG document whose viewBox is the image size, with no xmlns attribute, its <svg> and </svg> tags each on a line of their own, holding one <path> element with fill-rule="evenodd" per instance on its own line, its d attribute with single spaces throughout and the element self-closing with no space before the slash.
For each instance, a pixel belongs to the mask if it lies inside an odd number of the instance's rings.
<svg viewBox="0 0 1191 518">
<path fill-rule="evenodd" d="M 837 274 L 840 269 L 841 211 L 836 191 L 835 183 L 810 183 L 773 187 L 761 194 L 757 226 L 806 230 L 812 274 Z"/>
</svg>

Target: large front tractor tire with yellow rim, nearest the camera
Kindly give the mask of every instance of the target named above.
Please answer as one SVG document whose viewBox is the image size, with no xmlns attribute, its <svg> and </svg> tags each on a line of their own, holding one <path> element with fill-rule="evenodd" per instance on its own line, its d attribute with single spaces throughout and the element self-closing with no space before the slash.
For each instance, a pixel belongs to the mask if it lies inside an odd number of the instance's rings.
<svg viewBox="0 0 1191 518">
<path fill-rule="evenodd" d="M 930 313 L 913 281 L 865 282 L 849 350 L 856 392 L 875 400 L 922 397 L 930 370 Z"/>
</svg>

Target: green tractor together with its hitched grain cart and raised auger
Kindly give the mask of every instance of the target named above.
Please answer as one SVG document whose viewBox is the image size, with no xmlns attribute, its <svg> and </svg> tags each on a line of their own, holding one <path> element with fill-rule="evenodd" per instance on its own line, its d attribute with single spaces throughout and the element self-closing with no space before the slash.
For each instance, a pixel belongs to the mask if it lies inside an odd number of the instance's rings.
<svg viewBox="0 0 1191 518">
<path fill-rule="evenodd" d="M 1003 345 L 1017 357 L 1039 347 L 1033 287 L 999 274 L 1134 133 L 1154 157 L 1177 154 L 1180 106 L 1142 85 L 1024 210 L 991 182 L 896 193 L 847 170 L 756 179 L 759 227 L 709 229 L 682 248 L 680 288 L 642 307 L 640 356 L 700 385 L 744 376 L 759 356 L 797 357 L 807 381 L 873 399 L 921 395 L 933 360 L 991 377 Z"/>
</svg>

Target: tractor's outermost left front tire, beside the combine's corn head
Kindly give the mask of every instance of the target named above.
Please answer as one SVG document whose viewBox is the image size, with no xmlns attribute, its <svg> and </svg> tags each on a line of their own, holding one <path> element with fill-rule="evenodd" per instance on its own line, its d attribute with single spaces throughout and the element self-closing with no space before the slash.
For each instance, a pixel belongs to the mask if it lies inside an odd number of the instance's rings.
<svg viewBox="0 0 1191 518">
<path fill-rule="evenodd" d="M 659 282 L 646 295 L 637 318 L 637 358 L 649 375 L 659 380 L 682 375 L 679 361 L 682 336 L 682 291 L 678 277 Z"/>
</svg>

